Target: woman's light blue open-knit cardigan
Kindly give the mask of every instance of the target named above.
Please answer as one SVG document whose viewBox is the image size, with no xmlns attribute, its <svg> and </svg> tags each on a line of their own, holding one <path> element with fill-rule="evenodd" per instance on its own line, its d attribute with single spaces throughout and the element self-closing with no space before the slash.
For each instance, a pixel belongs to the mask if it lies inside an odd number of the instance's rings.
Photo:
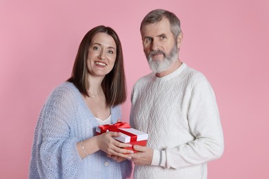
<svg viewBox="0 0 269 179">
<path fill-rule="evenodd" d="M 121 107 L 111 107 L 111 120 Z M 132 163 L 121 163 L 97 151 L 81 159 L 76 144 L 94 136 L 99 125 L 77 87 L 65 82 L 52 92 L 41 109 L 30 160 L 29 178 L 127 178 Z M 105 165 L 108 164 L 107 166 Z"/>
</svg>

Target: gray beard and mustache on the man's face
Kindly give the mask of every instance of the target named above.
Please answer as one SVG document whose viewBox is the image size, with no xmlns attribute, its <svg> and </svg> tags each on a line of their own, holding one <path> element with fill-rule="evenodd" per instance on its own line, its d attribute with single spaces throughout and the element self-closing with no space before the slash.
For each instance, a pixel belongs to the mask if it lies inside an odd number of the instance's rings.
<svg viewBox="0 0 269 179">
<path fill-rule="evenodd" d="M 156 54 L 158 52 L 161 52 L 163 54 L 163 61 L 159 60 L 152 60 L 152 54 Z M 177 49 L 177 45 L 174 45 L 174 48 L 171 50 L 170 54 L 166 54 L 162 50 L 155 50 L 150 52 L 148 55 L 148 64 L 150 65 L 150 69 L 155 73 L 161 73 L 165 72 L 169 69 L 172 63 L 178 60 L 178 53 L 179 50 Z"/>
</svg>

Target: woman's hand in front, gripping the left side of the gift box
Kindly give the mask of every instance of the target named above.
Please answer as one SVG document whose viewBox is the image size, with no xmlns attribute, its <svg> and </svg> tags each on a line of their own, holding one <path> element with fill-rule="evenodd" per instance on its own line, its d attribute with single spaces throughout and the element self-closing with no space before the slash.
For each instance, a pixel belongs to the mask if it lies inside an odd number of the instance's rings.
<svg viewBox="0 0 269 179">
<path fill-rule="evenodd" d="M 100 134 L 97 137 L 97 145 L 99 149 L 106 152 L 108 156 L 113 158 L 116 161 L 122 161 L 121 158 L 128 158 L 130 159 L 130 156 L 126 154 L 133 153 L 132 150 L 123 149 L 124 147 L 132 147 L 130 144 L 121 143 L 117 140 L 115 140 L 113 137 L 119 137 L 121 136 L 118 132 L 109 131 L 103 134 Z"/>
</svg>

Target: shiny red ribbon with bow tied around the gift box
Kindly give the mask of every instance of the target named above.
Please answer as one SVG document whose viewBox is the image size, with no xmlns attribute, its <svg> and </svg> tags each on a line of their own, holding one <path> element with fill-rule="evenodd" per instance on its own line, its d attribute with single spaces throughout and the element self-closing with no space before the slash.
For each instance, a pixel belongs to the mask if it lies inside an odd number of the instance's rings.
<svg viewBox="0 0 269 179">
<path fill-rule="evenodd" d="M 123 130 L 119 129 L 119 128 L 131 128 L 128 123 L 118 122 L 118 123 L 114 123 L 114 125 L 99 125 L 99 128 L 101 130 L 100 133 L 105 133 L 107 130 L 121 132 L 121 133 L 126 134 L 126 135 L 131 137 L 130 142 L 137 141 L 137 135 L 132 134 L 128 131 L 123 131 Z"/>
</svg>

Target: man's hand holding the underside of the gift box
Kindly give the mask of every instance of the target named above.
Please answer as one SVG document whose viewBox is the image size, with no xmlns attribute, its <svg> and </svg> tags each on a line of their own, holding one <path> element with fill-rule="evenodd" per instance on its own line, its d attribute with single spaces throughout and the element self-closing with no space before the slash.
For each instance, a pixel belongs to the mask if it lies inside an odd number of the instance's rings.
<svg viewBox="0 0 269 179">
<path fill-rule="evenodd" d="M 134 149 L 138 151 L 135 154 L 128 154 L 135 165 L 150 165 L 152 162 L 153 149 L 143 147 L 141 145 L 134 145 Z"/>
</svg>

